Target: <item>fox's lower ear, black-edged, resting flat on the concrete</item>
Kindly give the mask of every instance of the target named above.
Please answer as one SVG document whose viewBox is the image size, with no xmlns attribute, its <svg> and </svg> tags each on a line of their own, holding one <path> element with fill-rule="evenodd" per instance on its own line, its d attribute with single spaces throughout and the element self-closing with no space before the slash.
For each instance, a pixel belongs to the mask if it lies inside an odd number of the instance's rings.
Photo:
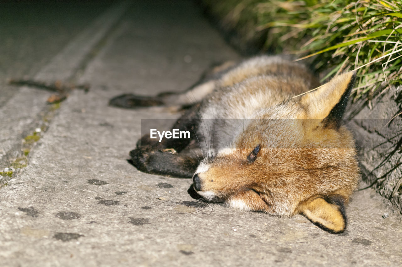
<svg viewBox="0 0 402 267">
<path fill-rule="evenodd" d="M 340 234 L 346 228 L 344 202 L 340 195 L 317 197 L 300 203 L 297 211 L 322 230 Z"/>
</svg>

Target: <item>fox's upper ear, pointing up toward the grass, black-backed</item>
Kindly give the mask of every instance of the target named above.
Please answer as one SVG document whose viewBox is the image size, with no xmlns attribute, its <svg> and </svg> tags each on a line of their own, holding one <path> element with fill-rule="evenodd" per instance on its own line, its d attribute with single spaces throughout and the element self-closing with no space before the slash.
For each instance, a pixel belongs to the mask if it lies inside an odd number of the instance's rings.
<svg viewBox="0 0 402 267">
<path fill-rule="evenodd" d="M 300 99 L 308 119 L 324 120 L 325 125 L 340 126 L 349 95 L 355 83 L 356 72 L 346 72 L 335 76 Z"/>
</svg>

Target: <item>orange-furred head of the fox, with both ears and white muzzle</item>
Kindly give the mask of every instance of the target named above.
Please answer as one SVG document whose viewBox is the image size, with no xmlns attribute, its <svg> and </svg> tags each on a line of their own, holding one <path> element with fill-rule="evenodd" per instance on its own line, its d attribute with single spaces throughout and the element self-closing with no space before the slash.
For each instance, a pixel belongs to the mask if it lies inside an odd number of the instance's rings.
<svg viewBox="0 0 402 267">
<path fill-rule="evenodd" d="M 354 80 L 347 72 L 298 100 L 256 111 L 230 148 L 201 162 L 194 189 L 207 201 L 303 214 L 328 232 L 343 232 L 344 204 L 359 181 L 353 136 L 341 125 Z"/>
</svg>

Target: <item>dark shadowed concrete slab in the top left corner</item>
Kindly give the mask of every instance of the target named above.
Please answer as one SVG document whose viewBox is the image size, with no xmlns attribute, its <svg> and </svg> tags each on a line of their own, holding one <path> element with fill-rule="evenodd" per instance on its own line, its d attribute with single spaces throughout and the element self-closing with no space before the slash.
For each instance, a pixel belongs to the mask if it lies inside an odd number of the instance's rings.
<svg viewBox="0 0 402 267">
<path fill-rule="evenodd" d="M 113 1 L 2 1 L 0 107 L 19 90 L 9 78 L 32 78 Z"/>
</svg>

